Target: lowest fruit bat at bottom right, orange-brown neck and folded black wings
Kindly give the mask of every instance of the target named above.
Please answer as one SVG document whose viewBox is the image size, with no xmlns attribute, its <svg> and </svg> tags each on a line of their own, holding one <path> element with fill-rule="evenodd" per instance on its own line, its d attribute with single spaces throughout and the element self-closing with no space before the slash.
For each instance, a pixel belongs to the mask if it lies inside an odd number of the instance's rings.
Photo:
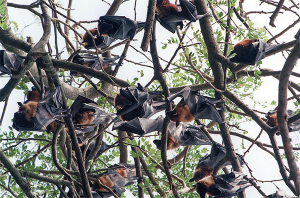
<svg viewBox="0 0 300 198">
<path fill-rule="evenodd" d="M 201 198 L 205 198 L 205 193 L 213 198 L 229 198 L 251 185 L 243 176 L 243 173 L 236 171 L 220 175 L 211 174 L 195 184 L 196 191 Z"/>
</svg>

